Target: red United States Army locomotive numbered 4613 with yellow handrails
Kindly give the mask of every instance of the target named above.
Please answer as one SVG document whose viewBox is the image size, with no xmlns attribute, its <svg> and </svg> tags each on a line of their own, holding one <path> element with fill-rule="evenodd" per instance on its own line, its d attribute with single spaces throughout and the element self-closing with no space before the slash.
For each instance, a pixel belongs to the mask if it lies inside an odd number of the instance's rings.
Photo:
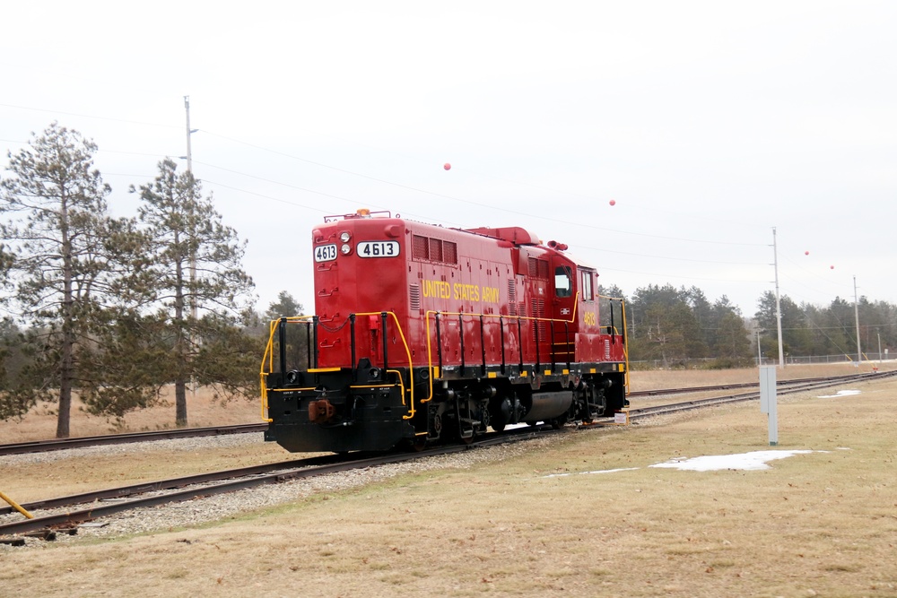
<svg viewBox="0 0 897 598">
<path fill-rule="evenodd" d="M 597 273 L 566 248 L 513 227 L 327 218 L 312 231 L 317 315 L 271 323 L 266 439 L 289 451 L 420 447 L 623 408 L 623 301 L 599 320 Z"/>
</svg>

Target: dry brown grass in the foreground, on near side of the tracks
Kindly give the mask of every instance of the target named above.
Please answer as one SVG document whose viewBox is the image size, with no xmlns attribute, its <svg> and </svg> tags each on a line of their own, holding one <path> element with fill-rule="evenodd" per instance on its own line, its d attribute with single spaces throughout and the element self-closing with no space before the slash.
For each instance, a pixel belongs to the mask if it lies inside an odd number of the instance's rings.
<svg viewBox="0 0 897 598">
<path fill-rule="evenodd" d="M 897 596 L 897 382 L 847 387 L 863 393 L 781 398 L 778 448 L 825 452 L 767 471 L 648 468 L 769 448 L 757 403 L 729 406 L 202 529 L 7 551 L 0 594 Z"/>
</svg>

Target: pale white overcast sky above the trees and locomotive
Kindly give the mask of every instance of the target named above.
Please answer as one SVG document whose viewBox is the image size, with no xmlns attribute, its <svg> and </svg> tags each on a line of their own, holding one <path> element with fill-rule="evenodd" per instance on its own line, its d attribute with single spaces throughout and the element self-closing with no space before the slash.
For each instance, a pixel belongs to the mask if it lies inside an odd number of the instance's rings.
<svg viewBox="0 0 897 598">
<path fill-rule="evenodd" d="M 782 294 L 897 303 L 895 2 L 7 4 L 0 148 L 74 128 L 133 214 L 188 95 L 260 309 L 313 308 L 310 230 L 360 207 L 522 226 L 745 316 L 775 227 Z"/>
</svg>

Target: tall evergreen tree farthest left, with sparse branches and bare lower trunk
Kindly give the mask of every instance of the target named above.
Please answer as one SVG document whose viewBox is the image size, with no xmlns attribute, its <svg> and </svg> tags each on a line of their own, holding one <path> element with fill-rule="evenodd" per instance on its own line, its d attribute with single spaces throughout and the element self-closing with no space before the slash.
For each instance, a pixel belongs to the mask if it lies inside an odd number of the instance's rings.
<svg viewBox="0 0 897 598">
<path fill-rule="evenodd" d="M 110 309 L 130 299 L 124 275 L 140 270 L 134 222 L 107 213 L 110 189 L 93 169 L 97 147 L 56 123 L 29 147 L 8 152 L 12 176 L 0 182 L 0 232 L 10 246 L 4 267 L 15 289 L 7 298 L 30 327 L 30 359 L 3 394 L 4 416 L 57 397 L 57 438 L 69 436 L 72 394 L 115 385 L 91 358 L 106 351 Z"/>
</svg>

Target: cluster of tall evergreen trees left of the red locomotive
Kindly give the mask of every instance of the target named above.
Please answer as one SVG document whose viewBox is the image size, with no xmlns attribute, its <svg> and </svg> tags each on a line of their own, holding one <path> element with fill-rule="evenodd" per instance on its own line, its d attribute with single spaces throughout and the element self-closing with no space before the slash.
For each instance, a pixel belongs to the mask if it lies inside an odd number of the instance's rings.
<svg viewBox="0 0 897 598">
<path fill-rule="evenodd" d="M 69 435 L 73 394 L 91 413 L 122 417 L 175 387 L 187 425 L 187 386 L 224 398 L 255 392 L 257 340 L 245 244 L 222 223 L 190 172 L 162 160 L 131 186 L 135 218 L 114 218 L 97 147 L 52 124 L 8 152 L 0 180 L 0 418 L 57 403 Z M 13 321 L 13 317 L 15 321 Z"/>
</svg>

